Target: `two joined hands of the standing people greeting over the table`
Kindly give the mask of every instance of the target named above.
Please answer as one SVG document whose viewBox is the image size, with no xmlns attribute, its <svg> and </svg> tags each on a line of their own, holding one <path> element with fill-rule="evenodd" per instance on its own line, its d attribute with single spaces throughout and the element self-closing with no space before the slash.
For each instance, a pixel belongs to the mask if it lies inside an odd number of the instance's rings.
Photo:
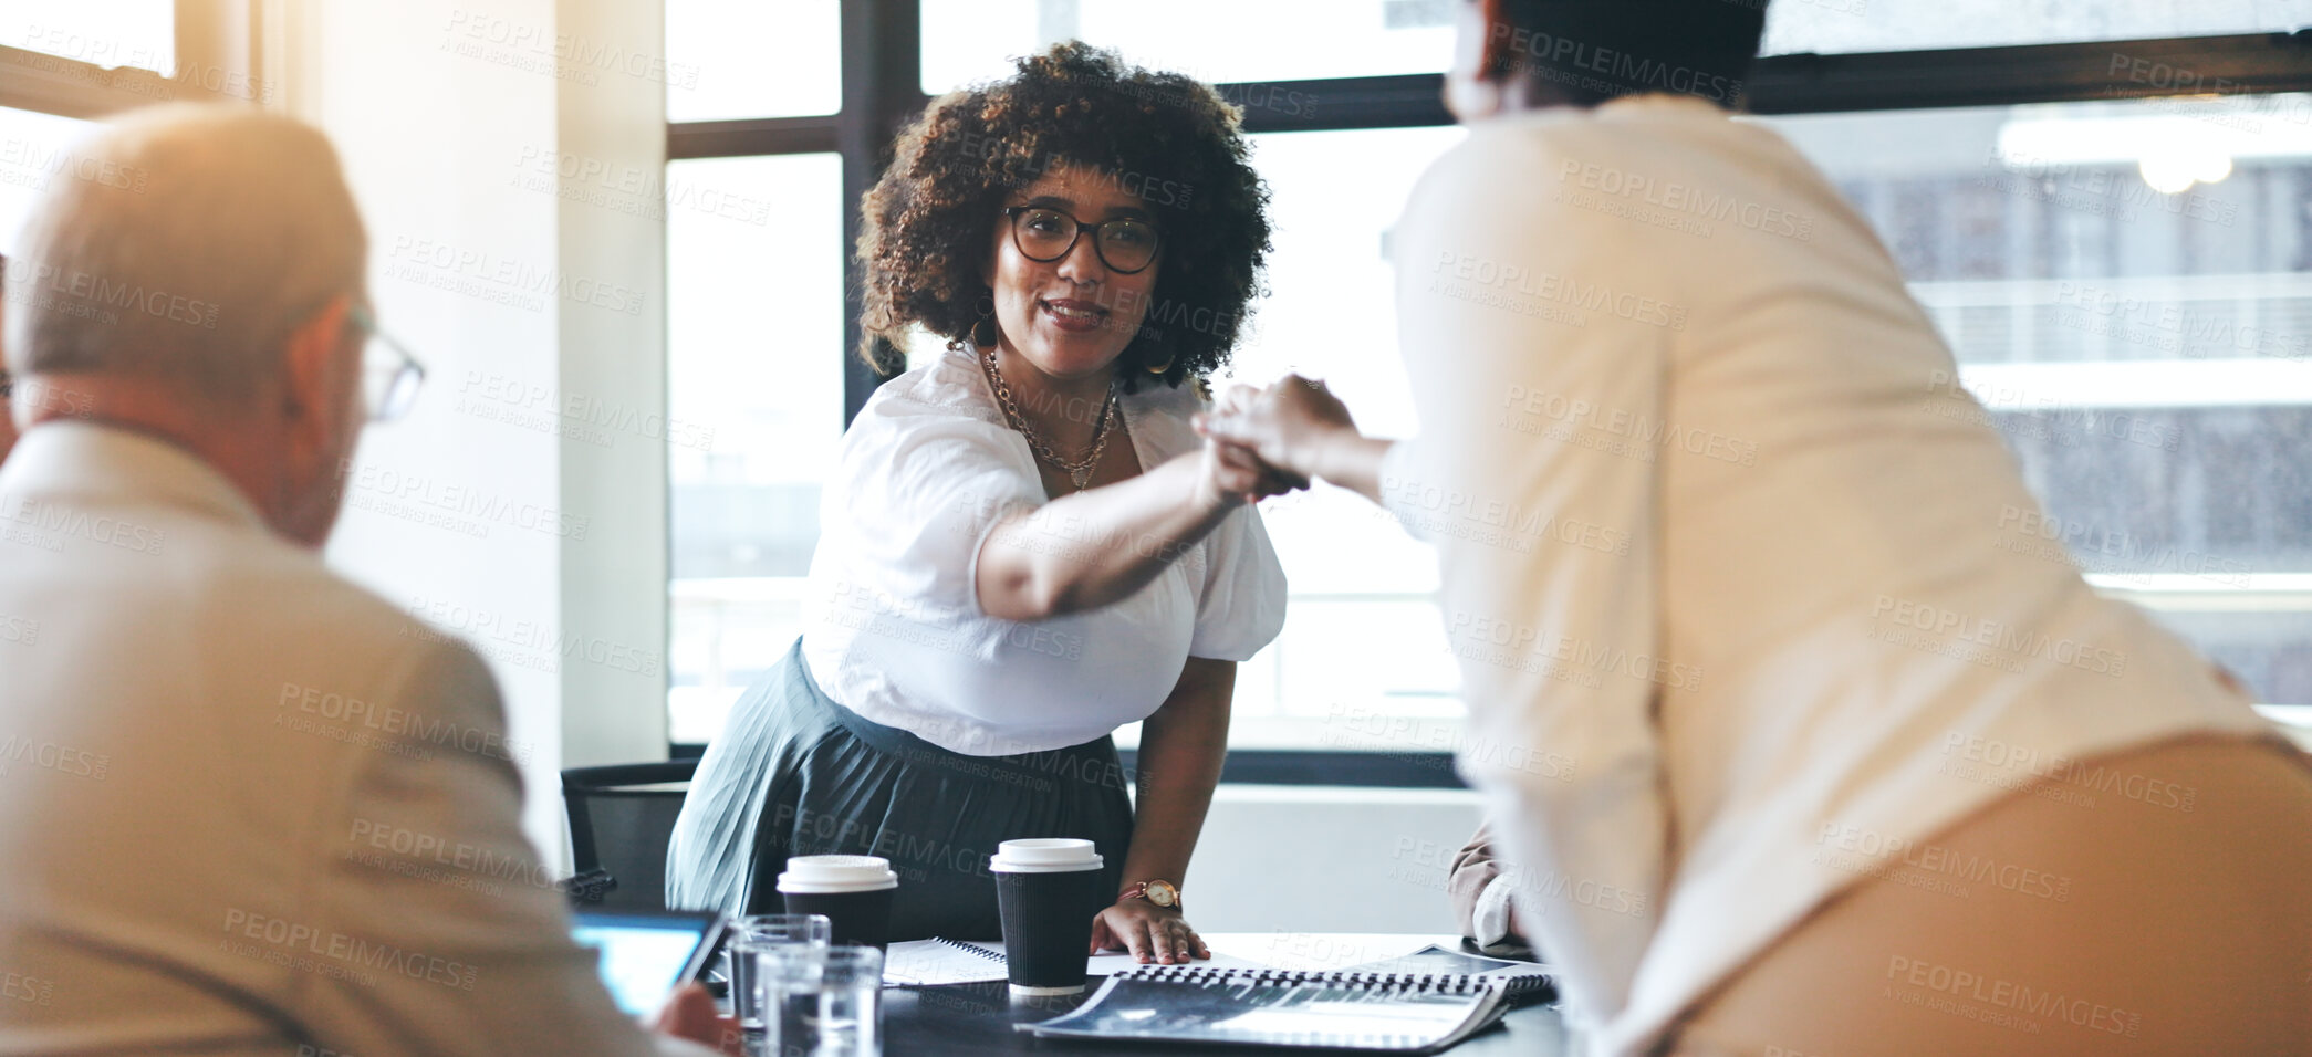
<svg viewBox="0 0 2312 1057">
<path fill-rule="evenodd" d="M 1309 488 L 1311 479 L 1348 483 L 1364 435 L 1325 382 L 1285 375 L 1265 389 L 1230 386 L 1193 419 L 1205 437 L 1205 483 L 1223 504 L 1251 504 Z"/>
</svg>

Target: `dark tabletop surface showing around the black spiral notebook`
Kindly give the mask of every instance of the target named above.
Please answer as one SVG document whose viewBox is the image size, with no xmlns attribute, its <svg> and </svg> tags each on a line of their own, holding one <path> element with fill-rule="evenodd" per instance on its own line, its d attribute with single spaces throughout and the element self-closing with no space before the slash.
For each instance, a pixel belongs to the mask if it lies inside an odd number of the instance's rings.
<svg viewBox="0 0 2312 1057">
<path fill-rule="evenodd" d="M 1036 1038 L 1017 1032 L 1015 1025 L 1033 1025 L 1066 1015 L 1101 990 L 1094 978 L 1084 995 L 1066 999 L 1013 999 L 1010 988 L 996 983 L 948 983 L 941 988 L 885 988 L 883 990 L 883 1052 L 890 1057 L 916 1055 L 990 1055 L 990 1052 L 1047 1052 L 1047 1055 L 1191 1055 L 1191 1052 L 1371 1052 L 1371 1050 L 1255 1050 L 1168 1043 L 1094 1043 L 1082 1038 Z M 1561 1057 L 1565 1052 L 1565 1027 L 1551 1006 L 1512 1008 L 1500 1027 L 1445 1050 L 1452 1057 Z"/>
</svg>

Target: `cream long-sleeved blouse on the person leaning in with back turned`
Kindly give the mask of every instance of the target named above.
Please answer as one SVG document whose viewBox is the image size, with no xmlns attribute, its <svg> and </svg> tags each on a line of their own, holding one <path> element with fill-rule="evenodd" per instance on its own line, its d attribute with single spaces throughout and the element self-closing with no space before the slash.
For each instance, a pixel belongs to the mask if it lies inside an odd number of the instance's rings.
<svg viewBox="0 0 2312 1057">
<path fill-rule="evenodd" d="M 1854 881 L 2028 877 L 1917 853 L 2011 789 L 2189 812 L 2083 761 L 2270 736 L 2046 557 L 1894 259 L 1773 132 L 1679 97 L 1480 123 L 1394 245 L 1422 435 L 1380 488 L 1436 544 L 1461 768 L 1591 1052 L 1651 1052 Z"/>
</svg>

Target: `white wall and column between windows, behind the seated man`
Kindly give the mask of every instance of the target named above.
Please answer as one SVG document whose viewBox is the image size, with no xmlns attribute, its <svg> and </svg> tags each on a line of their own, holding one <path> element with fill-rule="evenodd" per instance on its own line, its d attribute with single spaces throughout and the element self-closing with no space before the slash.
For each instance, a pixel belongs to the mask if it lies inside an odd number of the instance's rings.
<svg viewBox="0 0 2312 1057">
<path fill-rule="evenodd" d="M 666 754 L 657 0 L 273 0 L 277 106 L 338 143 L 379 321 L 428 368 L 331 564 L 472 641 L 562 858 L 564 766 Z M 576 49 L 576 51 L 573 51 Z"/>
</svg>

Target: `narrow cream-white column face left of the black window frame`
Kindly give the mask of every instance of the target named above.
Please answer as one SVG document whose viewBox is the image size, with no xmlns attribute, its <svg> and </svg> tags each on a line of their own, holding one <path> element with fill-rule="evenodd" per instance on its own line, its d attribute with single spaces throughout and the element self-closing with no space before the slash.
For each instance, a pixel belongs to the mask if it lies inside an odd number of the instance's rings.
<svg viewBox="0 0 2312 1057">
<path fill-rule="evenodd" d="M 664 0 L 560 0 L 562 763 L 666 759 Z M 569 643 L 566 643 L 569 645 Z"/>
</svg>

